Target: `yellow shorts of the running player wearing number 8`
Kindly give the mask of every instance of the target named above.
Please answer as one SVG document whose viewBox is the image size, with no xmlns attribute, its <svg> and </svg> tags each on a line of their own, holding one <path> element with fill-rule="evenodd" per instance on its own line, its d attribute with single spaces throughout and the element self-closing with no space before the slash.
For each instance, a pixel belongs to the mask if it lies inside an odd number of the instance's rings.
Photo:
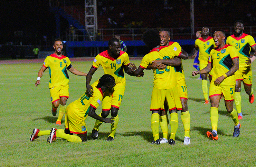
<svg viewBox="0 0 256 167">
<path fill-rule="evenodd" d="M 57 87 L 52 87 L 50 88 L 50 96 L 51 96 L 51 102 L 55 102 L 59 100 L 61 97 L 69 97 L 69 92 L 68 92 L 69 86 L 57 86 Z"/>
</svg>

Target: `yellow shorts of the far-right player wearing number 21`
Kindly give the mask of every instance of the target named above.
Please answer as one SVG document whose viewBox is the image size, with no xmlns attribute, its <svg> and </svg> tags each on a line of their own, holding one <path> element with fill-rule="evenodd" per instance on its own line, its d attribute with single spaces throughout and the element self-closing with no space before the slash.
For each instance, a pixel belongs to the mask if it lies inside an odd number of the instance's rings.
<svg viewBox="0 0 256 167">
<path fill-rule="evenodd" d="M 253 73 L 252 67 L 239 67 L 239 69 L 235 72 L 236 80 L 243 80 L 246 85 L 253 84 Z"/>
</svg>

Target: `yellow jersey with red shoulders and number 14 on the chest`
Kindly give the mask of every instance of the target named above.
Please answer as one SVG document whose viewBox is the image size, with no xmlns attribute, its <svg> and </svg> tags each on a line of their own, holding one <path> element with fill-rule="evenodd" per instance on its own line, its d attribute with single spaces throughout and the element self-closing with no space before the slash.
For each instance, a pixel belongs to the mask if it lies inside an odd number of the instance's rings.
<svg viewBox="0 0 256 167">
<path fill-rule="evenodd" d="M 94 58 L 93 67 L 98 68 L 101 65 L 104 74 L 112 75 L 115 78 L 116 85 L 125 85 L 124 66 L 129 63 L 129 56 L 126 52 L 120 51 L 120 56 L 114 59 L 107 51 L 104 51 Z"/>
</svg>

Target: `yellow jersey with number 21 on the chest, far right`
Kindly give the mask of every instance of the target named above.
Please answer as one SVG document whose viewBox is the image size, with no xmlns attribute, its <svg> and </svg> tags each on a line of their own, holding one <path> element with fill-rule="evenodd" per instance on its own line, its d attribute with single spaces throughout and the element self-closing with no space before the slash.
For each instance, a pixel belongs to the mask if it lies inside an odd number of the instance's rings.
<svg viewBox="0 0 256 167">
<path fill-rule="evenodd" d="M 254 38 L 248 34 L 243 33 L 239 38 L 235 35 L 227 37 L 227 44 L 233 45 L 239 55 L 239 67 L 250 66 L 245 64 L 245 61 L 250 58 L 251 47 L 256 45 Z"/>
</svg>

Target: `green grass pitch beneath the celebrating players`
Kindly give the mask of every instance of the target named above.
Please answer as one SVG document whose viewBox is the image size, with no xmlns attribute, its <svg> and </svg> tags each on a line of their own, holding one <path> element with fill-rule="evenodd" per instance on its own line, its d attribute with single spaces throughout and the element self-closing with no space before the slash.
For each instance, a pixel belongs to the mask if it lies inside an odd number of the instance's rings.
<svg viewBox="0 0 256 167">
<path fill-rule="evenodd" d="M 133 61 L 137 66 L 140 60 Z M 88 72 L 92 62 L 73 62 L 73 66 Z M 191 145 L 184 146 L 184 130 L 180 119 L 176 145 L 151 145 L 150 98 L 153 73 L 146 70 L 144 77 L 126 75 L 126 91 L 120 107 L 119 124 L 115 140 L 106 142 L 110 124 L 103 124 L 99 140 L 69 143 L 60 138 L 48 144 L 48 136 L 29 142 L 34 128 L 50 130 L 56 126 L 52 116 L 48 89 L 48 70 L 35 87 L 38 70 L 42 64 L 16 64 L 0 66 L 0 166 L 255 166 L 255 103 L 250 104 L 242 88 L 241 134 L 233 138 L 234 123 L 226 111 L 223 99 L 219 107 L 218 141 L 207 138 L 211 130 L 210 104 L 203 104 L 201 80 L 192 77 L 192 60 L 183 60 L 188 87 L 188 106 L 191 115 Z M 255 69 L 255 63 L 253 64 Z M 253 70 L 255 74 L 255 70 Z M 100 67 L 92 81 L 103 75 Z M 85 77 L 69 73 L 68 104 L 86 90 Z M 255 79 L 253 86 L 255 85 Z M 256 89 L 255 89 L 256 90 Z M 96 110 L 101 112 L 101 107 Z M 91 135 L 95 120 L 88 117 L 86 125 Z M 160 133 L 160 137 L 162 134 Z"/>
</svg>

